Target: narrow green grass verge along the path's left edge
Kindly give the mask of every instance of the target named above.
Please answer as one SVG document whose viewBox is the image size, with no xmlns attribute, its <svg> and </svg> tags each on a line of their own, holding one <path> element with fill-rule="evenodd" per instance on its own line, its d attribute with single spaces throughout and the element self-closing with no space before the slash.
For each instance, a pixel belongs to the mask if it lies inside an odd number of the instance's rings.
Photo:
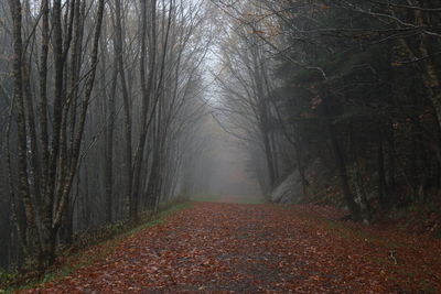
<svg viewBox="0 0 441 294">
<path fill-rule="evenodd" d="M 100 250 L 95 251 L 94 254 L 86 254 L 86 251 L 94 247 L 90 246 L 89 248 L 85 248 L 79 252 L 66 255 L 62 265 L 58 265 L 56 269 L 47 271 L 41 279 L 23 281 L 18 273 L 0 272 L 0 294 L 13 293 L 14 291 L 19 290 L 28 290 L 35 287 L 41 283 L 49 283 L 61 280 L 79 268 L 87 266 L 99 260 L 103 260 L 105 257 L 110 254 L 125 239 L 136 235 L 141 230 L 163 224 L 168 219 L 168 217 L 178 211 L 190 209 L 193 204 L 194 203 L 190 200 L 178 204 L 172 203 L 172 205 L 165 204 L 160 207 L 160 213 L 153 216 L 149 216 L 149 221 L 144 221 L 130 230 L 126 230 L 111 237 L 108 240 L 99 242 L 100 244 L 103 244 L 103 247 L 100 248 Z"/>
</svg>

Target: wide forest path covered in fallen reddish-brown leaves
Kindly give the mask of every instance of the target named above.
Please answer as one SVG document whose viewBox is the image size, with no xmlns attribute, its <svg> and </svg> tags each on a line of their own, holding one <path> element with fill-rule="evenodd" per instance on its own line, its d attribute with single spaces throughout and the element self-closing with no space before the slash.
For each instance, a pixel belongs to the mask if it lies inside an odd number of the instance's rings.
<svg viewBox="0 0 441 294">
<path fill-rule="evenodd" d="M 337 217 L 312 206 L 196 203 L 26 293 L 441 293 L 440 241 Z"/>
</svg>

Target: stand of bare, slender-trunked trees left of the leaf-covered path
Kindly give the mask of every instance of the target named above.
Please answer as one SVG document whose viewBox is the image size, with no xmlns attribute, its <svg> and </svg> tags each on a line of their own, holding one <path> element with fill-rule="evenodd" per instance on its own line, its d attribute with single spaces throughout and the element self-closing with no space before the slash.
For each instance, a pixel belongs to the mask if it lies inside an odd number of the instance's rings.
<svg viewBox="0 0 441 294">
<path fill-rule="evenodd" d="M 0 265 L 136 222 L 191 185 L 206 115 L 204 1 L 0 3 Z"/>
</svg>

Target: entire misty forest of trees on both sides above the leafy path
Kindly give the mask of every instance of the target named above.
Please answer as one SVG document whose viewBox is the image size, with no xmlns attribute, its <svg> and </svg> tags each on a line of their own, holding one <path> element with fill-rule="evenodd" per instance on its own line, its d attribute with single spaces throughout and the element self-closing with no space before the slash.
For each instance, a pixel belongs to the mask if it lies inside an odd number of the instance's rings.
<svg viewBox="0 0 441 294">
<path fill-rule="evenodd" d="M 439 0 L 4 0 L 0 44 L 0 273 L 219 190 L 441 237 Z"/>
</svg>

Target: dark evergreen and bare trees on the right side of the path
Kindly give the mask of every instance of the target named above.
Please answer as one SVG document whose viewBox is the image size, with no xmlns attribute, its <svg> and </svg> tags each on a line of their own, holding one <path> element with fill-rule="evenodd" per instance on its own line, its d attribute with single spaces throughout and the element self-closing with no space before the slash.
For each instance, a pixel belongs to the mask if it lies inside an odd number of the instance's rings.
<svg viewBox="0 0 441 294">
<path fill-rule="evenodd" d="M 218 117 L 267 190 L 319 159 L 356 220 L 439 197 L 441 3 L 213 0 L 225 15 Z M 263 163 L 263 164 L 262 164 Z"/>
</svg>

